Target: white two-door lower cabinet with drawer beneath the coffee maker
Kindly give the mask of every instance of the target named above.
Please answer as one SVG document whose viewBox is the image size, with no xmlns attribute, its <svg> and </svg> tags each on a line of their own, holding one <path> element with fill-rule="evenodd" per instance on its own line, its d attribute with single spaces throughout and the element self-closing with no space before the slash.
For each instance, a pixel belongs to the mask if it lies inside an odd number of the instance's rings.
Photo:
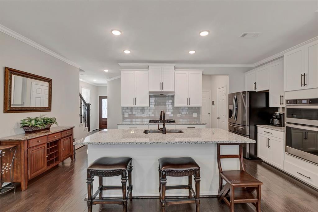
<svg viewBox="0 0 318 212">
<path fill-rule="evenodd" d="M 257 156 L 277 168 L 284 169 L 284 134 L 277 132 L 258 128 Z M 277 135 L 278 138 L 268 134 Z"/>
</svg>

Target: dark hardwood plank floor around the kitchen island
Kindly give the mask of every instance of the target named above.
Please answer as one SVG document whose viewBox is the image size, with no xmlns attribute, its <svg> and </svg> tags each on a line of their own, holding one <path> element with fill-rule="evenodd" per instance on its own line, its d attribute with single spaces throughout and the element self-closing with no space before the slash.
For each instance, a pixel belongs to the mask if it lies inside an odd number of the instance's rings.
<svg viewBox="0 0 318 212">
<path fill-rule="evenodd" d="M 28 189 L 0 195 L 0 211 L 87 211 L 86 147 L 78 149 L 76 161 L 70 159 L 29 181 Z M 318 192 L 259 160 L 244 160 L 245 169 L 264 182 L 262 211 L 318 211 Z M 129 212 L 159 212 L 159 199 L 128 201 Z M 235 211 L 255 211 L 249 204 L 236 204 Z M 201 212 L 229 211 L 217 198 L 202 198 Z M 121 205 L 94 205 L 93 211 L 121 212 Z M 195 204 L 171 205 L 167 212 L 192 212 Z"/>
</svg>

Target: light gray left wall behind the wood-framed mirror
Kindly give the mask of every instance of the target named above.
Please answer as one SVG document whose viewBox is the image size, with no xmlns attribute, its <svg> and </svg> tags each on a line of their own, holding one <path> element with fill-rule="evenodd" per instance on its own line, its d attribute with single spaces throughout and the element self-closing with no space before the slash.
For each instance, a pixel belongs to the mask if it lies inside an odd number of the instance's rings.
<svg viewBox="0 0 318 212">
<path fill-rule="evenodd" d="M 79 130 L 79 69 L 3 32 L 0 32 L 0 46 L 0 137 L 24 133 L 20 129 L 20 120 L 40 114 L 56 117 L 59 126 L 75 126 L 74 137 L 82 137 Z M 4 114 L 4 67 L 51 78 L 52 111 Z"/>
</svg>

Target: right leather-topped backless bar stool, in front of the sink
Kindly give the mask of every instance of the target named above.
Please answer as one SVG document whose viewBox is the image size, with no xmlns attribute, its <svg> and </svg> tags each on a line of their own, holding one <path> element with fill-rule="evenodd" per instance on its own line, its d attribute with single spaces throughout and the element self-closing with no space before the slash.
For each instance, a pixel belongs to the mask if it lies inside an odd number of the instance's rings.
<svg viewBox="0 0 318 212">
<path fill-rule="evenodd" d="M 191 175 L 194 175 L 195 190 L 192 188 Z M 188 185 L 166 186 L 167 178 L 188 176 Z M 188 189 L 188 199 L 166 200 L 166 190 L 168 189 Z M 193 194 L 193 198 L 191 195 Z M 159 159 L 159 198 L 161 211 L 165 212 L 165 207 L 170 204 L 196 203 L 196 211 L 200 211 L 200 167 L 196 161 L 190 157 L 182 158 L 160 158 Z"/>
</svg>

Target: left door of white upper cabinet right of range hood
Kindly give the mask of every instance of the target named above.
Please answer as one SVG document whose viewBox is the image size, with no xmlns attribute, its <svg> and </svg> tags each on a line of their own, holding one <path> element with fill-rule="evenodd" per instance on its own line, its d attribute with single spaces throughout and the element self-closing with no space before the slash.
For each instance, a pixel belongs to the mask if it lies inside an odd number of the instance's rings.
<svg viewBox="0 0 318 212">
<path fill-rule="evenodd" d="M 188 72 L 175 72 L 175 107 L 189 106 Z"/>
</svg>

